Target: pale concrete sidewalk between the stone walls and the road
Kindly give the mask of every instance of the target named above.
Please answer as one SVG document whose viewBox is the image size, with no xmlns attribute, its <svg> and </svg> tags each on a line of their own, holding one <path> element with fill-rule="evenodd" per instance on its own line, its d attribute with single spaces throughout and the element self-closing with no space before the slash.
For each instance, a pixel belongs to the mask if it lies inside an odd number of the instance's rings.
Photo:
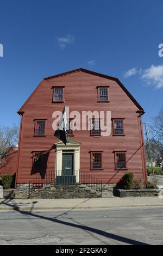
<svg viewBox="0 0 163 256">
<path fill-rule="evenodd" d="M 143 206 L 163 206 L 163 198 L 85 198 L 85 199 L 0 199 L 0 210 L 38 209 L 105 209 Z"/>
</svg>

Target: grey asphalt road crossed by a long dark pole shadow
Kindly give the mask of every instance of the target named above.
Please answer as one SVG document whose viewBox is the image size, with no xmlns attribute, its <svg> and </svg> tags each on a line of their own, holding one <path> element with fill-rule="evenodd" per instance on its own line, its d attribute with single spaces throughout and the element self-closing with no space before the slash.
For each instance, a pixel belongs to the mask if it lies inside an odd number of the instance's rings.
<svg viewBox="0 0 163 256">
<path fill-rule="evenodd" d="M 163 208 L 0 211 L 0 245 L 163 245 Z"/>
</svg>

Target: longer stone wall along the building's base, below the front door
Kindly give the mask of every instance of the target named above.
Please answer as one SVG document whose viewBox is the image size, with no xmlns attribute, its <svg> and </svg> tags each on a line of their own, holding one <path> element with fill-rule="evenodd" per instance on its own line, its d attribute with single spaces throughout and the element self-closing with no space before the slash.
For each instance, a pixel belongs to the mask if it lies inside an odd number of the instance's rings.
<svg viewBox="0 0 163 256">
<path fill-rule="evenodd" d="M 90 184 L 89 184 L 90 185 Z M 4 190 L 4 198 L 15 199 L 59 199 L 59 198 L 101 198 L 114 197 L 116 184 L 56 185 L 43 184 L 42 188 L 30 188 L 29 184 L 18 184 L 17 189 Z M 103 191 L 103 193 L 101 193 Z"/>
</svg>

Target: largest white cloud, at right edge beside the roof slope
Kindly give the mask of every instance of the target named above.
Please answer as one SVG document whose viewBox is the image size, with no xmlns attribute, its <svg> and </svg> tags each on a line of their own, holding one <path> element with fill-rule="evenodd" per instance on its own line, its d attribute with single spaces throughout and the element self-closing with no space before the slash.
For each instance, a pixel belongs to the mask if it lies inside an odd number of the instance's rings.
<svg viewBox="0 0 163 256">
<path fill-rule="evenodd" d="M 152 65 L 151 68 L 143 70 L 141 78 L 147 84 L 153 83 L 158 89 L 163 87 L 163 65 Z"/>
</svg>

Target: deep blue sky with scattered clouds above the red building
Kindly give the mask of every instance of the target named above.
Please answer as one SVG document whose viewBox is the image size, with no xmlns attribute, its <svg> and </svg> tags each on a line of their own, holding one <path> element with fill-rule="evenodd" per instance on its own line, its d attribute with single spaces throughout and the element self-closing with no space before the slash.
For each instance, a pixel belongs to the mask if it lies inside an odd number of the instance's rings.
<svg viewBox="0 0 163 256">
<path fill-rule="evenodd" d="M 83 67 L 118 77 L 150 121 L 162 107 L 162 0 L 1 1 L 0 125 L 43 77 Z"/>
</svg>

